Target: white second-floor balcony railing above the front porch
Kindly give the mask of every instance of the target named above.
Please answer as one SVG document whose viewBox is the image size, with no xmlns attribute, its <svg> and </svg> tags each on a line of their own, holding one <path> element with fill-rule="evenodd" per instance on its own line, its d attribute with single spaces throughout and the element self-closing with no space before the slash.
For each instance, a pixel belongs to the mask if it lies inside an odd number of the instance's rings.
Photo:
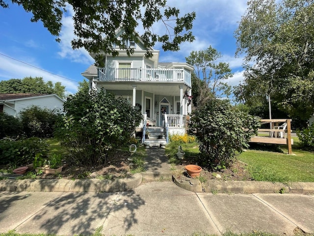
<svg viewBox="0 0 314 236">
<path fill-rule="evenodd" d="M 184 82 L 191 85 L 191 74 L 184 69 L 99 68 L 100 81 Z"/>
</svg>

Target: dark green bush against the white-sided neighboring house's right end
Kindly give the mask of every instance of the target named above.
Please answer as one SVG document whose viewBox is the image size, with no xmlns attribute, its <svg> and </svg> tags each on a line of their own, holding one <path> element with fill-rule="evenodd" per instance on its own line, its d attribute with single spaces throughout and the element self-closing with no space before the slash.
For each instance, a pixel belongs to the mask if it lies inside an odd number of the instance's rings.
<svg viewBox="0 0 314 236">
<path fill-rule="evenodd" d="M 37 106 L 25 109 L 20 114 L 26 136 L 39 138 L 53 136 L 57 116 L 55 111 Z"/>
</svg>

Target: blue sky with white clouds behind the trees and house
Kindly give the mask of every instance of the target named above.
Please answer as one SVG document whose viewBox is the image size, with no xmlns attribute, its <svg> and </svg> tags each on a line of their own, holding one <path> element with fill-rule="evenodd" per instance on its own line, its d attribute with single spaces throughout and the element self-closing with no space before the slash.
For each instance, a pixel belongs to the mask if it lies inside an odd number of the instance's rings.
<svg viewBox="0 0 314 236">
<path fill-rule="evenodd" d="M 246 10 L 246 0 L 168 0 L 168 5 L 180 8 L 182 14 L 195 11 L 193 35 L 196 40 L 183 43 L 179 52 L 163 52 L 161 45 L 159 62 L 185 62 L 192 50 L 205 50 L 211 45 L 228 62 L 234 73 L 231 85 L 242 80 L 242 57 L 235 58 L 234 31 Z M 73 21 L 71 9 L 62 19 L 61 43 L 43 27 L 41 22 L 31 23 L 31 14 L 23 7 L 9 3 L 0 7 L 0 80 L 43 77 L 45 81 L 61 82 L 69 93 L 77 91 L 83 80 L 81 72 L 94 63 L 84 50 L 72 50 Z M 155 32 L 164 33 L 164 26 L 156 24 Z M 141 33 L 141 29 L 138 29 Z M 4 56 L 5 55 L 5 56 Z"/>
</svg>

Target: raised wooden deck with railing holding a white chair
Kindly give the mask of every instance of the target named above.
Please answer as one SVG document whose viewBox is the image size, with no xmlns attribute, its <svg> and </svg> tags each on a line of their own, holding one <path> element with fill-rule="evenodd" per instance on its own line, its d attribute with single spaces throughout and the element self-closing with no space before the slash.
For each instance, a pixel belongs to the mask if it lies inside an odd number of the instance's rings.
<svg viewBox="0 0 314 236">
<path fill-rule="evenodd" d="M 291 145 L 293 145 L 293 139 L 291 139 L 291 119 L 261 119 L 262 124 L 272 123 L 272 129 L 259 129 L 259 132 L 273 132 L 274 136 L 277 137 L 279 132 L 284 133 L 284 138 L 274 138 L 269 136 L 254 136 L 251 138 L 251 143 L 262 143 L 262 144 L 284 144 L 288 145 L 288 154 L 292 154 Z M 287 129 L 276 129 L 276 123 L 287 122 Z"/>
</svg>

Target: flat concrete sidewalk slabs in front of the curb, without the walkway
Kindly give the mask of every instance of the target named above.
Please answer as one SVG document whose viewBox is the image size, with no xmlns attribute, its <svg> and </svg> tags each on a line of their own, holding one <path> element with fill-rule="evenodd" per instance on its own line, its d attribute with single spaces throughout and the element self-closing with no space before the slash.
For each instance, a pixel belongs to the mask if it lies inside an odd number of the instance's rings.
<svg viewBox="0 0 314 236">
<path fill-rule="evenodd" d="M 0 232 L 191 236 L 314 233 L 314 195 L 194 193 L 171 181 L 115 193 L 1 192 Z"/>
</svg>

